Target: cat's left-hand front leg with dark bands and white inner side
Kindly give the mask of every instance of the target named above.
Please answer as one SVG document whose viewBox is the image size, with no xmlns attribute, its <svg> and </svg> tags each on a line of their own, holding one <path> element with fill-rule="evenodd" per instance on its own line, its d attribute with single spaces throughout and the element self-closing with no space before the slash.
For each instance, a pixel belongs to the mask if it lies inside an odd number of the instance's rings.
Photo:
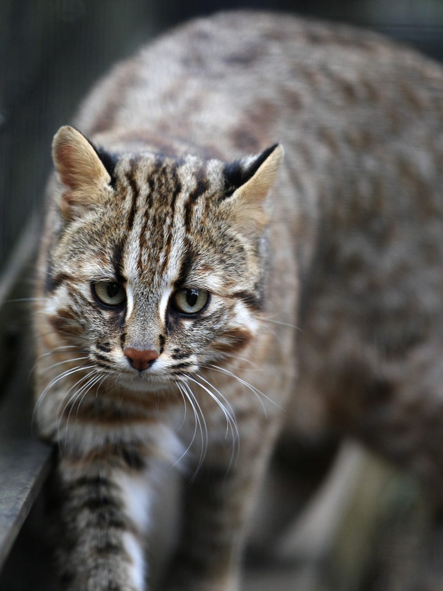
<svg viewBox="0 0 443 591">
<path fill-rule="evenodd" d="M 99 460 L 60 459 L 55 480 L 62 589 L 145 589 L 151 499 L 147 475 L 133 457 L 123 450 Z"/>
</svg>

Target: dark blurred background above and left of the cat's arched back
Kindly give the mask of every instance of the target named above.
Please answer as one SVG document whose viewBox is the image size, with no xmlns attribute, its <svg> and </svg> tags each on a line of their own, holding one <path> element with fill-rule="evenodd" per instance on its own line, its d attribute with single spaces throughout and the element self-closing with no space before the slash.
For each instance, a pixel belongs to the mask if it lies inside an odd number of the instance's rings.
<svg viewBox="0 0 443 591">
<path fill-rule="evenodd" d="M 97 77 L 171 25 L 238 7 L 353 22 L 443 59 L 442 0 L 0 0 L 0 269 Z"/>
</svg>

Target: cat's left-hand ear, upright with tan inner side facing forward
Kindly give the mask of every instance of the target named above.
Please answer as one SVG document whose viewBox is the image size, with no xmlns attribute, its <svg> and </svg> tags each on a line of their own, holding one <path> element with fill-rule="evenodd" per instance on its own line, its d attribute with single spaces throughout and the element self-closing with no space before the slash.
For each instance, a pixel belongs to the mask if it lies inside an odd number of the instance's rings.
<svg viewBox="0 0 443 591">
<path fill-rule="evenodd" d="M 58 181 L 66 187 L 60 210 L 66 219 L 74 219 L 100 201 L 111 177 L 92 144 L 69 125 L 54 135 L 52 153 Z"/>
</svg>

